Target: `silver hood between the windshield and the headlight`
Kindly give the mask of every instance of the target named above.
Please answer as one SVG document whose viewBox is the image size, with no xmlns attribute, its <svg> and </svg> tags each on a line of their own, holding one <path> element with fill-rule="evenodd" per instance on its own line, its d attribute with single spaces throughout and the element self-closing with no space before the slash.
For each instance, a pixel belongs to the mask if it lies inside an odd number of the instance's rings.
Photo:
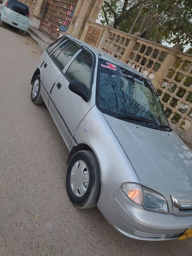
<svg viewBox="0 0 192 256">
<path fill-rule="evenodd" d="M 192 196 L 192 152 L 175 132 L 104 117 L 142 185 L 161 193 L 171 204 L 170 195 Z"/>
</svg>

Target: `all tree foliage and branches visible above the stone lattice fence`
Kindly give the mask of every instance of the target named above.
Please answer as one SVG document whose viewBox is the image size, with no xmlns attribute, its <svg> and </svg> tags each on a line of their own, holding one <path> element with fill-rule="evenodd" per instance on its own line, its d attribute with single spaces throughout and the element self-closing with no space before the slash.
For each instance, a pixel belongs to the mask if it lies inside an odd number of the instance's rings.
<svg viewBox="0 0 192 256">
<path fill-rule="evenodd" d="M 136 20 L 132 34 L 147 27 L 146 39 L 181 44 L 188 53 L 192 52 L 192 1 L 105 0 L 99 20 L 102 24 L 113 23 L 114 28 L 127 33 Z"/>
</svg>

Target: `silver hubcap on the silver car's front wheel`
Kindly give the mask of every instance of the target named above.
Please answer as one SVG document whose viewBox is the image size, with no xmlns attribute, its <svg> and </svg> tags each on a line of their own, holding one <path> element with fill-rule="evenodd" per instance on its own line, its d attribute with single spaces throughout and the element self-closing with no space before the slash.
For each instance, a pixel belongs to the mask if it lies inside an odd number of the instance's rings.
<svg viewBox="0 0 192 256">
<path fill-rule="evenodd" d="M 75 196 L 84 196 L 89 185 L 89 171 L 84 161 L 79 160 L 73 165 L 70 184 Z"/>
</svg>

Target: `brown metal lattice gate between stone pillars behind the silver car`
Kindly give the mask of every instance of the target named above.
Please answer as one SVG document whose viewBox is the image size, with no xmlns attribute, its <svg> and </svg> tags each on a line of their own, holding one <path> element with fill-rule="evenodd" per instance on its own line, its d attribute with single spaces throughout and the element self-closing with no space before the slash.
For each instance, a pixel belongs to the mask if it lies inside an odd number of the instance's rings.
<svg viewBox="0 0 192 256">
<path fill-rule="evenodd" d="M 70 25 L 78 0 L 47 0 L 41 18 L 40 29 L 54 37 L 66 32 Z"/>
</svg>

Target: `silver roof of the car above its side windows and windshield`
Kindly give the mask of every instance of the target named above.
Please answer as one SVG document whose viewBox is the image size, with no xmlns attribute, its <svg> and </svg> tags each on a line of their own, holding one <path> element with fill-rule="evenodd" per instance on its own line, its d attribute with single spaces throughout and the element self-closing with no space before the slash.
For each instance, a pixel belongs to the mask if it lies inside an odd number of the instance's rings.
<svg viewBox="0 0 192 256">
<path fill-rule="evenodd" d="M 148 80 L 148 78 L 146 76 L 144 76 L 143 74 L 138 72 L 136 69 L 130 67 L 129 65 L 127 65 L 123 61 L 118 60 L 117 58 L 111 56 L 107 52 L 104 52 L 104 51 L 100 50 L 99 48 L 96 48 L 96 47 L 92 46 L 91 44 L 87 44 L 87 43 L 85 43 L 85 42 L 83 42 L 83 41 L 81 41 L 81 40 L 79 40 L 79 39 L 77 39 L 77 38 L 75 38 L 73 36 L 70 36 L 70 35 L 65 35 L 65 36 L 73 39 L 74 41 L 80 43 L 81 45 L 84 45 L 86 48 L 90 49 L 92 52 L 97 54 L 99 58 L 104 59 L 104 60 L 106 60 L 108 62 L 112 62 L 112 63 L 116 64 L 117 66 L 120 66 L 120 67 L 122 67 L 122 68 L 124 68 L 124 69 L 126 69 L 126 70 L 128 70 L 128 71 L 130 71 L 130 72 L 132 72 L 132 73 L 134 73 L 134 74 L 136 74 L 138 76 L 141 76 L 141 77 L 143 77 L 143 78 Z"/>
</svg>

